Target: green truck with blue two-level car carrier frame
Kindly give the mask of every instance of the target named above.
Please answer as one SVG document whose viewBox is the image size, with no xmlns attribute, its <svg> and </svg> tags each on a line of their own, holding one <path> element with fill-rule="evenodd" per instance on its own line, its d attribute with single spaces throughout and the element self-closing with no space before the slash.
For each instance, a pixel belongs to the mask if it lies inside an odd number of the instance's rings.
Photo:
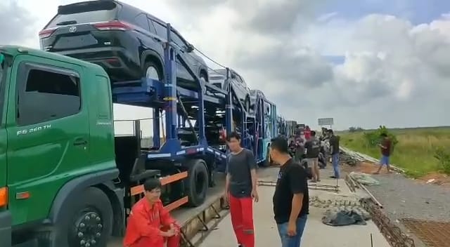
<svg viewBox="0 0 450 247">
<path fill-rule="evenodd" d="M 104 246 L 123 234 L 147 178 L 165 185 L 167 209 L 200 206 L 227 155 L 214 126 L 229 133 L 234 121 L 259 163 L 278 129 L 273 103 L 257 98 L 257 111 L 248 114 L 233 88 L 200 81 L 170 42 L 164 81 L 111 84 L 103 68 L 75 58 L 18 46 L 0 46 L 0 53 L 1 247 Z M 176 86 L 176 60 L 197 90 Z M 114 135 L 113 102 L 153 108 L 153 147 L 141 146 L 140 121 L 134 135 Z"/>
</svg>

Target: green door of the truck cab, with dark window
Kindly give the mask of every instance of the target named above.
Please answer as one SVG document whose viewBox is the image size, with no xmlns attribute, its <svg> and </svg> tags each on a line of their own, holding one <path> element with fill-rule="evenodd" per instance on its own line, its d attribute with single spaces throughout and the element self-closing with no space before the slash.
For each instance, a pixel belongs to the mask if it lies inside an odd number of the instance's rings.
<svg viewBox="0 0 450 247">
<path fill-rule="evenodd" d="M 89 172 L 89 118 L 82 67 L 18 55 L 7 132 L 13 224 L 46 218 L 58 189 Z"/>
</svg>

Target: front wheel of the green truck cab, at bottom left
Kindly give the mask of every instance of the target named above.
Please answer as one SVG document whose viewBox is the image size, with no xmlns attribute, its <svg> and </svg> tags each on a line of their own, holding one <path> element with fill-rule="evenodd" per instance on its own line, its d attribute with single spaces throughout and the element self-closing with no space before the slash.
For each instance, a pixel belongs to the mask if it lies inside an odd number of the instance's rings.
<svg viewBox="0 0 450 247">
<path fill-rule="evenodd" d="M 89 187 L 64 204 L 53 231 L 37 235 L 41 247 L 104 247 L 113 232 L 113 208 L 101 189 Z M 89 243 L 89 244 L 88 244 Z M 86 245 L 87 244 L 87 245 Z"/>
</svg>

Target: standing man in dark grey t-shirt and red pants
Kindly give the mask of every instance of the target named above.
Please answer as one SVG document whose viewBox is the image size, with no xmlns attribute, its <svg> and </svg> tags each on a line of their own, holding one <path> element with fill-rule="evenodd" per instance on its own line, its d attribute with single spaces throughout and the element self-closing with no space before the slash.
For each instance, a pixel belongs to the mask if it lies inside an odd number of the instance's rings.
<svg viewBox="0 0 450 247">
<path fill-rule="evenodd" d="M 255 247 L 253 201 L 258 201 L 256 161 L 253 153 L 240 147 L 240 135 L 227 136 L 231 153 L 226 166 L 224 198 L 229 201 L 231 224 L 238 246 Z"/>
</svg>

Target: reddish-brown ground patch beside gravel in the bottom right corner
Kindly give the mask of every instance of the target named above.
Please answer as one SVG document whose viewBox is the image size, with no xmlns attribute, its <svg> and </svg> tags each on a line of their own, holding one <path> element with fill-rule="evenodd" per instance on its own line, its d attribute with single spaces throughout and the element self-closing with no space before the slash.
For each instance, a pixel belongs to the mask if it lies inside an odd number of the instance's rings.
<svg viewBox="0 0 450 247">
<path fill-rule="evenodd" d="M 428 247 L 447 247 L 450 243 L 450 222 L 403 219 L 401 222 Z"/>
</svg>

